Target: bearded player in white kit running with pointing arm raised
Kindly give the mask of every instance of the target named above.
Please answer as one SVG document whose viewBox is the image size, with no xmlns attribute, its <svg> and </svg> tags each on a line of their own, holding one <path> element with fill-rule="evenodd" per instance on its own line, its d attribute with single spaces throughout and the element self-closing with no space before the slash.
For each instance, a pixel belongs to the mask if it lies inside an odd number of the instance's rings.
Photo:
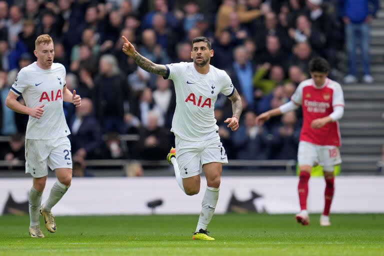
<svg viewBox="0 0 384 256">
<path fill-rule="evenodd" d="M 225 71 L 209 64 L 213 56 L 211 43 L 206 37 L 192 40 L 190 58 L 193 62 L 167 65 L 155 64 L 135 51 L 133 45 L 123 36 L 122 51 L 131 56 L 144 70 L 172 79 L 176 91 L 176 109 L 171 131 L 175 135 L 175 149 L 171 148 L 168 161 L 173 164 L 180 188 L 188 195 L 200 190 L 201 168 L 204 170 L 207 188 L 201 203 L 193 239 L 214 240 L 206 227 L 216 207 L 220 189 L 222 163 L 227 163 L 225 149 L 218 136 L 214 119 L 214 103 L 222 92 L 232 101 L 233 115 L 225 120 L 228 127 L 238 129 L 242 106 L 241 99 Z"/>
</svg>

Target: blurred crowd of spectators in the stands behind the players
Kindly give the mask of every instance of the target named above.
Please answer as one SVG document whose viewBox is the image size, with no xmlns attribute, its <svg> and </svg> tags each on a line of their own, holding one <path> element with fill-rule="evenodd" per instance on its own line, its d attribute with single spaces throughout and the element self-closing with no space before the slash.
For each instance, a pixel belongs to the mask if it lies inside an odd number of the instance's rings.
<svg viewBox="0 0 384 256">
<path fill-rule="evenodd" d="M 378 3 L 371 2 L 372 17 Z M 12 112 L 4 99 L 18 71 L 35 61 L 34 41 L 43 33 L 53 38 L 54 60 L 66 68 L 67 88 L 82 97 L 78 108 L 64 102 L 74 161 L 165 159 L 173 144 L 172 81 L 138 68 L 121 51 L 121 35 L 159 64 L 191 61 L 192 39 L 208 37 L 214 50 L 211 64 L 228 72 L 243 102 L 240 128 L 229 132 L 223 120 L 231 114 L 230 102 L 223 95 L 216 101 L 219 135 L 229 158 L 295 159 L 300 112 L 288 112 L 262 127 L 255 116 L 287 102 L 309 77 L 307 64 L 315 55 L 329 61 L 331 78 L 342 80 L 346 74 L 345 82 L 356 81 L 355 61 L 345 73 L 339 68 L 344 26 L 353 17 L 338 3 L 0 0 L 0 133 L 11 135 L 1 159 L 24 158 L 28 116 Z M 362 81 L 368 83 L 373 79 L 369 60 L 365 62 Z M 138 140 L 126 143 L 119 134 L 138 134 Z"/>
</svg>

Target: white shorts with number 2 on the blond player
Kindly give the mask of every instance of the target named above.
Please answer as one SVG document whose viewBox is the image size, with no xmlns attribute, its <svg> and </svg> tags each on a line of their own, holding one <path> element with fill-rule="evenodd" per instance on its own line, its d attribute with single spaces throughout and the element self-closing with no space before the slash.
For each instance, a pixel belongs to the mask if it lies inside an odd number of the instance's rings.
<svg viewBox="0 0 384 256">
<path fill-rule="evenodd" d="M 68 137 L 25 139 L 25 173 L 39 178 L 57 168 L 72 168 Z"/>
</svg>

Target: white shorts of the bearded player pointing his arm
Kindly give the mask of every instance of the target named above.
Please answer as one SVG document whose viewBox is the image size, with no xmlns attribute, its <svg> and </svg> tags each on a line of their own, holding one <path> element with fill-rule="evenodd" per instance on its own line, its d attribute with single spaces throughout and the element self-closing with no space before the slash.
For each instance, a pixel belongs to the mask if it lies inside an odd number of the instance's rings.
<svg viewBox="0 0 384 256">
<path fill-rule="evenodd" d="M 175 144 L 176 161 L 182 178 L 199 175 L 202 165 L 205 163 L 228 163 L 218 134 L 216 137 L 204 141 L 188 141 L 176 136 Z"/>
</svg>

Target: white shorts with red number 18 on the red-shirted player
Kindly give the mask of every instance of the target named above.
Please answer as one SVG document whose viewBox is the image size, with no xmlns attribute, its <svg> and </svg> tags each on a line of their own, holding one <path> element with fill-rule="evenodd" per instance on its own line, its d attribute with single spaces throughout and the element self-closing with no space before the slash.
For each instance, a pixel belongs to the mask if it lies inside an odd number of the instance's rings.
<svg viewBox="0 0 384 256">
<path fill-rule="evenodd" d="M 300 141 L 297 161 L 298 165 L 313 166 L 318 163 L 323 170 L 333 171 L 334 165 L 341 163 L 341 157 L 337 146 L 322 146 Z"/>
</svg>

